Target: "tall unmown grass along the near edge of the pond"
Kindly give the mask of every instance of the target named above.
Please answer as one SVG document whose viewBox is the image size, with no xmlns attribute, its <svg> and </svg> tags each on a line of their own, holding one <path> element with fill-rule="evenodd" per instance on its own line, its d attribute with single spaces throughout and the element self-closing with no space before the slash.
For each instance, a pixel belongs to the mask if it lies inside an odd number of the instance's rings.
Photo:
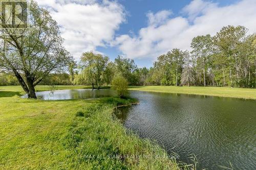
<svg viewBox="0 0 256 170">
<path fill-rule="evenodd" d="M 106 98 L 76 112 L 62 143 L 75 169 L 188 169 L 148 139 L 123 128 L 113 108 L 134 99 Z M 191 168 L 191 166 L 190 166 Z"/>
</svg>

